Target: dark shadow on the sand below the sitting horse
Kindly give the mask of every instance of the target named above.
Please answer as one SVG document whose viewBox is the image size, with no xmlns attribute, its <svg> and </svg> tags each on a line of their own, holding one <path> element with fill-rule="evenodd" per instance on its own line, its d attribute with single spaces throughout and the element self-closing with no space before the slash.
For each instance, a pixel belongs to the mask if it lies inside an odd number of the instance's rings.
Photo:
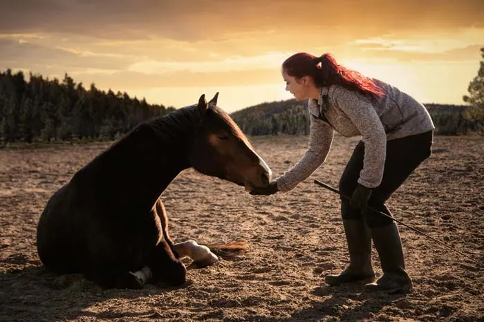
<svg viewBox="0 0 484 322">
<path fill-rule="evenodd" d="M 159 315 L 156 307 L 142 312 L 125 312 L 115 305 L 115 300 L 137 301 L 155 294 L 167 294 L 192 283 L 187 281 L 181 287 L 145 285 L 142 290 L 103 290 L 81 274 L 52 274 L 39 261 L 25 263 L 18 255 L 0 261 L 0 267 L 12 267 L 12 263 L 24 268 L 0 273 L 0 321 L 3 322 L 120 319 L 129 316 L 156 319 Z M 113 310 L 95 312 L 95 307 L 106 301 L 113 301 Z"/>
</svg>

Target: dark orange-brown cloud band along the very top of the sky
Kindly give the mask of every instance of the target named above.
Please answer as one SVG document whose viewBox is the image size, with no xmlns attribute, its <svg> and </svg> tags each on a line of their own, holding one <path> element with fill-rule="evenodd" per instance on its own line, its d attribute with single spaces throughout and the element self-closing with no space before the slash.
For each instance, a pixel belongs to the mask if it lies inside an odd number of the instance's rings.
<svg viewBox="0 0 484 322">
<path fill-rule="evenodd" d="M 484 26 L 482 0 L 16 0 L 2 1 L 0 12 L 1 33 L 62 31 L 100 39 L 198 41 L 295 28 L 378 35 Z"/>
</svg>

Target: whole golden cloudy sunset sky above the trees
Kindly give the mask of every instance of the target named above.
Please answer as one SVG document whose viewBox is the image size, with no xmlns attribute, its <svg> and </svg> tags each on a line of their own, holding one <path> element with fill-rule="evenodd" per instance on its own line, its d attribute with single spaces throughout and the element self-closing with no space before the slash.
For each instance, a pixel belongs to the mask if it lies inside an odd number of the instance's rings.
<svg viewBox="0 0 484 322">
<path fill-rule="evenodd" d="M 219 92 L 232 113 L 292 98 L 290 55 L 332 53 L 422 103 L 464 104 L 483 17 L 483 0 L 0 0 L 0 70 L 176 108 Z"/>
</svg>

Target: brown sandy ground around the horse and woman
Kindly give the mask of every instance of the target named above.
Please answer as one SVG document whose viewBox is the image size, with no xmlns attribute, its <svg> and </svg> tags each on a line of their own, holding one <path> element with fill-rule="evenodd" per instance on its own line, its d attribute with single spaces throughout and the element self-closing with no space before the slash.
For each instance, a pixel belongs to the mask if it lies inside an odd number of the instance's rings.
<svg viewBox="0 0 484 322">
<path fill-rule="evenodd" d="M 307 137 L 252 138 L 276 176 L 299 160 Z M 328 287 L 347 263 L 335 193 L 356 139 L 336 137 L 324 167 L 290 193 L 242 187 L 184 171 L 162 198 L 170 234 L 201 244 L 245 240 L 248 249 L 203 269 L 183 287 L 102 290 L 55 276 L 35 247 L 48 198 L 108 144 L 0 150 L 0 321 L 484 321 L 476 263 L 400 226 L 410 294 Z M 395 218 L 484 261 L 484 140 L 436 137 L 434 154 L 393 195 Z M 381 274 L 378 256 L 375 269 Z"/>
</svg>

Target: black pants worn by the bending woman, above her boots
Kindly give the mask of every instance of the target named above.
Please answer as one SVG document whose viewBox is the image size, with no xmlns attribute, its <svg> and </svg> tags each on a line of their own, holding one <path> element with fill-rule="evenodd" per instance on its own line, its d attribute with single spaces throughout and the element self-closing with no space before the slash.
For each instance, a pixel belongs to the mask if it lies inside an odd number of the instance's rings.
<svg viewBox="0 0 484 322">
<path fill-rule="evenodd" d="M 391 212 L 384 205 L 391 194 L 407 180 L 410 174 L 418 167 L 423 160 L 431 154 L 433 131 L 418 135 L 411 135 L 406 138 L 387 141 L 387 157 L 385 159 L 383 178 L 380 186 L 373 189 L 369 205 L 384 214 L 391 216 Z M 341 180 L 339 180 L 339 191 L 342 195 L 353 195 L 360 178 L 360 171 L 363 169 L 364 143 L 358 142 L 351 155 Z M 341 213 L 343 219 L 362 219 L 360 209 L 351 207 L 349 200 L 342 198 Z M 393 220 L 382 216 L 375 211 L 367 211 L 364 214 L 369 227 L 382 227 L 390 225 Z"/>
</svg>

